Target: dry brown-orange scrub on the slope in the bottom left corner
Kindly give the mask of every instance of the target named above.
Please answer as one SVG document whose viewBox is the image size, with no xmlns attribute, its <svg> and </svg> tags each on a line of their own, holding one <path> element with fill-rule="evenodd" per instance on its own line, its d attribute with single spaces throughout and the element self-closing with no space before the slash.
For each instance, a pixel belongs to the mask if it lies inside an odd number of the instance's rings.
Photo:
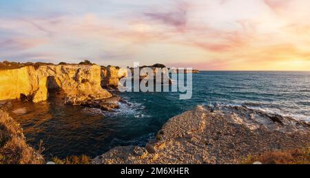
<svg viewBox="0 0 310 178">
<path fill-rule="evenodd" d="M 43 164 L 42 151 L 28 146 L 19 123 L 0 110 L 0 164 Z"/>
</svg>

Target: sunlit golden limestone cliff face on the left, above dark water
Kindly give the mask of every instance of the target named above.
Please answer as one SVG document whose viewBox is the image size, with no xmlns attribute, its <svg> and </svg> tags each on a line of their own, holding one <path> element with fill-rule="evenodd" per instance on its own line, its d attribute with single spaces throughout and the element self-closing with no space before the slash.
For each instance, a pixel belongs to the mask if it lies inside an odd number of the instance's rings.
<svg viewBox="0 0 310 178">
<path fill-rule="evenodd" d="M 87 99 L 112 97 L 101 88 L 101 68 L 92 65 L 25 66 L 0 70 L 0 100 L 26 96 L 33 102 L 48 99 L 48 89 L 59 89 L 65 103 L 79 104 Z"/>
</svg>

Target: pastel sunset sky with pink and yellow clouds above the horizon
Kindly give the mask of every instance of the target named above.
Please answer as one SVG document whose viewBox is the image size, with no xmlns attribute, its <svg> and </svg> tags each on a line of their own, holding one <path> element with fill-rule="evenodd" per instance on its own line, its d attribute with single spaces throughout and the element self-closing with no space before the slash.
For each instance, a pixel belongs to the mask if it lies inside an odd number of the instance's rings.
<svg viewBox="0 0 310 178">
<path fill-rule="evenodd" d="M 0 1 L 0 61 L 310 70 L 309 0 Z"/>
</svg>

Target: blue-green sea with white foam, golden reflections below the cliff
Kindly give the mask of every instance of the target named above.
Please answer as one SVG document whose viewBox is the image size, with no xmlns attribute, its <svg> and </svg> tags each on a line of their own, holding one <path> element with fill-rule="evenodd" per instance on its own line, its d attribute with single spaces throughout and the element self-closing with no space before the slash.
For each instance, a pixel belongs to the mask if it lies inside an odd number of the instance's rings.
<svg viewBox="0 0 310 178">
<path fill-rule="evenodd" d="M 309 121 L 310 72 L 200 72 L 193 75 L 193 96 L 179 100 L 174 92 L 116 93 L 128 103 L 115 112 L 64 106 L 61 99 L 41 103 L 13 102 L 25 108 L 11 113 L 46 157 L 94 157 L 115 146 L 143 145 L 170 117 L 200 104 L 245 105 Z"/>
</svg>

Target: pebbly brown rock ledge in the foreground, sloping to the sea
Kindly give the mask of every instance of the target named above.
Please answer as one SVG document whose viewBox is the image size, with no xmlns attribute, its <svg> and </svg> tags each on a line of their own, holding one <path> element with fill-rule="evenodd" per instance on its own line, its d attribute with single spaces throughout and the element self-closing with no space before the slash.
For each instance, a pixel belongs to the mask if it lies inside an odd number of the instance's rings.
<svg viewBox="0 0 310 178">
<path fill-rule="evenodd" d="M 242 106 L 198 106 L 169 119 L 145 147 L 117 147 L 94 164 L 238 164 L 248 155 L 304 148 L 310 125 Z"/>
</svg>

